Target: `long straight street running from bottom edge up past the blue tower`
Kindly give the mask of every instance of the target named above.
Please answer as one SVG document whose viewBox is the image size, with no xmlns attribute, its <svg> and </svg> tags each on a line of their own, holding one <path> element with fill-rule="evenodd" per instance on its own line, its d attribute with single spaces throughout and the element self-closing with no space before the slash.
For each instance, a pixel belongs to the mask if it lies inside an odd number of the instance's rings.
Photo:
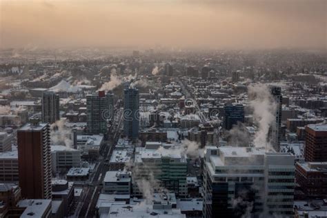
<svg viewBox="0 0 327 218">
<path fill-rule="evenodd" d="M 106 146 L 101 150 L 102 158 L 99 158 L 99 163 L 96 168 L 94 177 L 90 181 L 90 188 L 86 194 L 85 199 L 83 199 L 83 205 L 81 207 L 81 211 L 79 212 L 78 217 L 95 217 L 96 216 L 96 206 L 97 201 L 99 199 L 99 195 L 102 190 L 102 182 L 104 177 L 106 176 L 106 172 L 109 170 L 109 166 L 106 165 L 106 157 L 110 159 L 112 155 L 112 150 L 117 143 L 119 136 L 120 136 L 120 128 L 122 125 L 122 117 L 123 112 L 121 109 L 117 110 L 116 116 L 117 119 L 117 126 L 113 125 L 111 132 L 114 133 L 113 136 L 109 137 L 108 141 L 106 141 Z M 116 123 L 116 121 L 114 122 Z"/>
</svg>

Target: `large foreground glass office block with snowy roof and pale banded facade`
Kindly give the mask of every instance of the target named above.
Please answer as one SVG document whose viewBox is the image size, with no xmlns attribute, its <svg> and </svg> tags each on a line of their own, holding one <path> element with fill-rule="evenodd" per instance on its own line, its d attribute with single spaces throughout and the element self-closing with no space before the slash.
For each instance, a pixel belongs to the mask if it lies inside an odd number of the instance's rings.
<svg viewBox="0 0 327 218">
<path fill-rule="evenodd" d="M 208 147 L 204 217 L 293 217 L 294 171 L 294 156 L 287 153 Z"/>
</svg>

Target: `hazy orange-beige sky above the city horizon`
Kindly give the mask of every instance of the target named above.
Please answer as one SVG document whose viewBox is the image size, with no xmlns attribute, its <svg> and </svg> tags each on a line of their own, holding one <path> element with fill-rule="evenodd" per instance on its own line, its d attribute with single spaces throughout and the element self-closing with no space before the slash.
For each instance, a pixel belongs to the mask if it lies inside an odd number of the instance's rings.
<svg viewBox="0 0 327 218">
<path fill-rule="evenodd" d="M 327 0 L 0 0 L 0 47 L 326 48 Z"/>
</svg>

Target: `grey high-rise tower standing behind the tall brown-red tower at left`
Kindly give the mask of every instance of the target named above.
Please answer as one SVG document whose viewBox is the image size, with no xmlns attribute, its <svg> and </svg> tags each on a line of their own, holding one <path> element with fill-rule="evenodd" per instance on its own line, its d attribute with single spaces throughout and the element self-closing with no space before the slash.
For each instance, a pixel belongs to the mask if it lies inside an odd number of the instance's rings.
<svg viewBox="0 0 327 218">
<path fill-rule="evenodd" d="M 54 92 L 43 92 L 42 122 L 54 123 L 59 120 L 59 95 Z"/>
</svg>

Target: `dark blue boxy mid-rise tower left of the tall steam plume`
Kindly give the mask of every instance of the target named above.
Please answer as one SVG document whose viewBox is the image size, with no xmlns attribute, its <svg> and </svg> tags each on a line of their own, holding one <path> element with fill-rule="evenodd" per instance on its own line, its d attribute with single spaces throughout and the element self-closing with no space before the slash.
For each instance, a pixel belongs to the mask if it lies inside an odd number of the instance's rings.
<svg viewBox="0 0 327 218">
<path fill-rule="evenodd" d="M 238 122 L 244 123 L 244 106 L 241 104 L 224 106 L 224 128 L 230 130 Z"/>
</svg>

